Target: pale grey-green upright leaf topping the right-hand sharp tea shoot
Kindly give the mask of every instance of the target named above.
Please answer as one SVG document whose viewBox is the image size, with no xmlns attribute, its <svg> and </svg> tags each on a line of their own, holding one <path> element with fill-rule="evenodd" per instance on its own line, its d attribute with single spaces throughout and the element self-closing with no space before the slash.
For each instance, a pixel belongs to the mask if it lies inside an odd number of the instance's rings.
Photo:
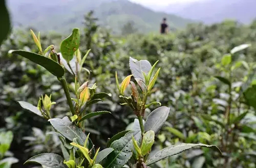
<svg viewBox="0 0 256 168">
<path fill-rule="evenodd" d="M 152 68 L 150 62 L 148 62 L 147 60 L 138 61 L 130 57 L 129 64 L 134 78 L 139 78 L 145 82 L 145 78 L 142 72 L 144 72 L 146 75 L 148 74 L 148 72 L 150 72 Z"/>
</svg>

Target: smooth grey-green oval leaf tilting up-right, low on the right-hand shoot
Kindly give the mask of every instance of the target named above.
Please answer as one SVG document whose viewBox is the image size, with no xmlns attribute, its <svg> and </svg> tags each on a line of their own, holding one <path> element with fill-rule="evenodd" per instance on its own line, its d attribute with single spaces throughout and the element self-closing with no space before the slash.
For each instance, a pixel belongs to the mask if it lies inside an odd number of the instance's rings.
<svg viewBox="0 0 256 168">
<path fill-rule="evenodd" d="M 160 130 L 169 115 L 170 108 L 158 107 L 147 117 L 144 124 L 145 131 L 153 130 L 155 134 Z"/>
</svg>

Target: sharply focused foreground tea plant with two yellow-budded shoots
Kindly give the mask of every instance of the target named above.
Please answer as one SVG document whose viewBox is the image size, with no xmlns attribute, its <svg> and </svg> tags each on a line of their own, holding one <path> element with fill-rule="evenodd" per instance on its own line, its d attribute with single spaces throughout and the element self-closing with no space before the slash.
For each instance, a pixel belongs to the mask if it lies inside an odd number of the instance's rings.
<svg viewBox="0 0 256 168">
<path fill-rule="evenodd" d="M 158 151 L 155 155 L 149 157 L 154 144 L 155 135 L 163 126 L 169 115 L 169 108 L 161 106 L 145 118 L 145 109 L 154 104 L 161 105 L 160 102 L 148 102 L 147 98 L 151 94 L 155 82 L 157 81 L 160 68 L 155 75 L 153 72 L 157 62 L 152 66 L 146 60 L 135 60 L 130 58 L 130 69 L 132 75 L 123 79 L 121 85 L 116 73 L 116 84 L 120 91 L 120 98 L 123 99 L 122 105 L 130 106 L 137 119 L 134 121 L 133 129 L 120 132 L 110 138 L 106 148 L 95 150 L 93 142 L 89 135 L 84 133 L 84 120 L 97 115 L 110 113 L 109 111 L 96 111 L 88 113 L 87 108 L 92 104 L 102 101 L 104 97 L 110 96 L 106 93 L 96 93 L 96 84 L 89 84 L 89 81 L 82 81 L 82 68 L 84 61 L 89 53 L 81 58 L 79 52 L 80 35 L 78 29 L 73 29 L 72 34 L 63 40 L 60 44 L 60 53 L 57 53 L 53 45 L 42 49 L 40 44 L 40 34 L 36 36 L 31 31 L 35 44 L 38 47 L 38 53 L 28 52 L 25 50 L 11 50 L 10 53 L 22 55 L 30 61 L 46 68 L 50 73 L 57 77 L 70 107 L 68 116 L 52 118 L 51 107 L 56 104 L 51 100 L 51 95 L 41 96 L 37 106 L 25 101 L 19 101 L 19 104 L 38 116 L 47 119 L 54 128 L 52 134 L 58 135 L 62 143 L 63 157 L 54 153 L 42 153 L 36 155 L 26 163 L 36 162 L 48 167 L 123 167 L 125 164 L 135 167 L 147 167 L 154 163 L 176 154 L 179 154 L 192 147 L 214 148 L 216 146 L 205 144 L 178 144 L 172 145 Z M 74 86 L 69 87 L 65 78 L 64 67 L 74 75 Z M 134 77 L 135 82 L 131 81 Z M 127 95 L 127 88 L 131 86 Z M 138 90 L 137 86 L 140 88 Z M 74 97 L 71 97 L 70 90 L 73 91 Z"/>
</svg>

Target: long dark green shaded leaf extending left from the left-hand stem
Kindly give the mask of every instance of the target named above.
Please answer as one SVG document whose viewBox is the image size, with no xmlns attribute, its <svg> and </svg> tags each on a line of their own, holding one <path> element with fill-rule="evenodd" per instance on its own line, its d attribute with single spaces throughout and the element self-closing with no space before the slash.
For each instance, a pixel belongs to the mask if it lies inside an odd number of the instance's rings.
<svg viewBox="0 0 256 168">
<path fill-rule="evenodd" d="M 65 73 L 61 65 L 43 55 L 23 50 L 10 50 L 10 52 L 29 59 L 30 61 L 44 67 L 57 77 L 62 77 Z"/>
</svg>

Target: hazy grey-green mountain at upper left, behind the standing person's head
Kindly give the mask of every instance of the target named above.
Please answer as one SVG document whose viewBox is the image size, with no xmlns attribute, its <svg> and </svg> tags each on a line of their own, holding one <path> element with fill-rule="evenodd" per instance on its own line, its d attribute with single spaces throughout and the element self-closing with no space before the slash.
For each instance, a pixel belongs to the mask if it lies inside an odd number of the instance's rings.
<svg viewBox="0 0 256 168">
<path fill-rule="evenodd" d="M 73 27 L 82 27 L 84 14 L 95 11 L 99 24 L 120 33 L 124 24 L 134 22 L 140 32 L 159 30 L 163 17 L 174 28 L 184 27 L 192 20 L 174 14 L 155 12 L 127 0 L 9 0 L 8 7 L 14 26 L 32 26 L 40 31 L 67 33 Z"/>
</svg>

